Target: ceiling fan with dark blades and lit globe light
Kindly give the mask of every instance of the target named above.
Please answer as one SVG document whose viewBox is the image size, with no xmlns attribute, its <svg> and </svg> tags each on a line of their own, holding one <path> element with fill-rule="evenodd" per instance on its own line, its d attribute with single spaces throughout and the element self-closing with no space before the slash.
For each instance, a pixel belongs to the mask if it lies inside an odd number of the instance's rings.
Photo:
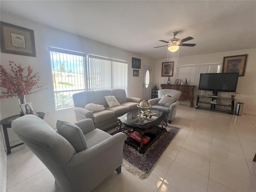
<svg viewBox="0 0 256 192">
<path fill-rule="evenodd" d="M 168 45 L 164 45 L 164 46 L 158 46 L 158 47 L 166 47 L 168 46 L 168 50 L 171 52 L 175 52 L 179 49 L 179 46 L 189 46 L 189 47 L 194 47 L 196 44 L 191 44 L 191 43 L 183 43 L 189 40 L 192 40 L 194 38 L 192 37 L 187 37 L 184 38 L 182 40 L 176 38 L 175 36 L 178 34 L 178 32 L 172 32 L 172 35 L 174 36 L 174 38 L 170 39 L 169 41 L 164 41 L 164 40 L 159 40 L 165 43 L 168 43 Z M 154 47 L 154 48 L 158 48 L 158 47 Z"/>
</svg>

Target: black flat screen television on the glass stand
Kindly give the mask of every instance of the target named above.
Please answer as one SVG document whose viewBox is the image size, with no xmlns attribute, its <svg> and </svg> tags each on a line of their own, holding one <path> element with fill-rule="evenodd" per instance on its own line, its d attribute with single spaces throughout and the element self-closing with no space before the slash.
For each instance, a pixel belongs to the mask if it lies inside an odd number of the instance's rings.
<svg viewBox="0 0 256 192">
<path fill-rule="evenodd" d="M 236 92 L 239 73 L 201 73 L 199 90 L 221 92 Z"/>
</svg>

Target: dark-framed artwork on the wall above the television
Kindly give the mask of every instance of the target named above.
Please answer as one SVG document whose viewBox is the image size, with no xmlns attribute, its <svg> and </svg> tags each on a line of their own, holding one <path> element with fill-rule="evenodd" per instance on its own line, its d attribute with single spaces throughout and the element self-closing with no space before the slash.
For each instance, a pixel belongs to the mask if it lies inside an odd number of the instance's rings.
<svg viewBox="0 0 256 192">
<path fill-rule="evenodd" d="M 244 76 L 246 61 L 247 54 L 224 57 L 222 73 L 239 73 L 239 76 Z"/>
</svg>

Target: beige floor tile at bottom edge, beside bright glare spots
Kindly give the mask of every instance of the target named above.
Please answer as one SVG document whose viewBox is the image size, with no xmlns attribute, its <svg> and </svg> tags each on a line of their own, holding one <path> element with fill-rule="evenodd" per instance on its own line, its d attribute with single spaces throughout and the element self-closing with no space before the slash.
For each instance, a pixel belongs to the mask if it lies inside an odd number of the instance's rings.
<svg viewBox="0 0 256 192">
<path fill-rule="evenodd" d="M 208 178 L 190 168 L 173 162 L 164 182 L 179 192 L 207 191 Z"/>
</svg>

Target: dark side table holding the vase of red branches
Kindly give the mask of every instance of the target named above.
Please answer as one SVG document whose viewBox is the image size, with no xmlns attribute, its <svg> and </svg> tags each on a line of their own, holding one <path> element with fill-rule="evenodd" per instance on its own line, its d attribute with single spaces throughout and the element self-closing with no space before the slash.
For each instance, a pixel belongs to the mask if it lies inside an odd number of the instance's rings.
<svg viewBox="0 0 256 192">
<path fill-rule="evenodd" d="M 41 119 L 44 119 L 45 113 L 44 112 L 37 112 L 37 116 L 40 117 Z M 17 115 L 14 115 L 14 116 L 7 117 L 7 118 L 0 121 L 0 124 L 2 125 L 3 131 L 4 131 L 4 140 L 5 140 L 5 144 L 6 144 L 7 154 L 11 153 L 12 148 L 24 144 L 24 143 L 19 143 L 19 144 L 10 146 L 9 136 L 8 136 L 8 132 L 7 132 L 7 128 L 12 128 L 12 121 L 14 121 L 15 119 L 17 119 L 19 117 L 20 117 L 20 114 L 17 114 Z"/>
</svg>

